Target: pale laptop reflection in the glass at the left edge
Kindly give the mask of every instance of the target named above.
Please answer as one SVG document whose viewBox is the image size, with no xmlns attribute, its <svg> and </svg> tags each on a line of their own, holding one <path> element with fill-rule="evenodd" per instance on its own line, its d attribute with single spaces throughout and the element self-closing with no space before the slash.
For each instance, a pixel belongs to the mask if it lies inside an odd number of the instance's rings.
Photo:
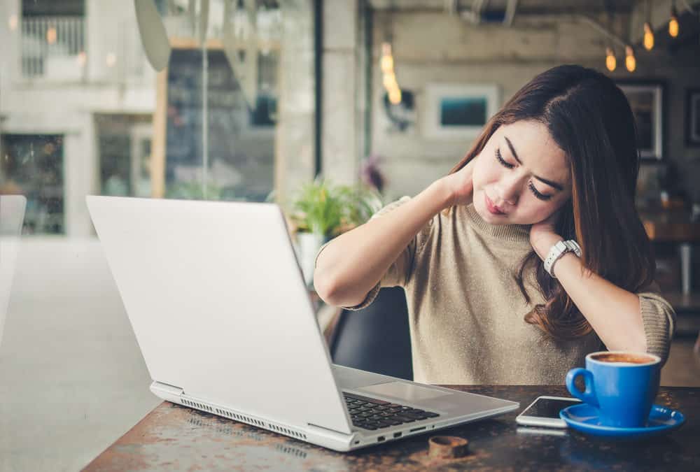
<svg viewBox="0 0 700 472">
<path fill-rule="evenodd" d="M 25 196 L 0 195 L 0 342 L 10 304 L 26 206 Z"/>
</svg>

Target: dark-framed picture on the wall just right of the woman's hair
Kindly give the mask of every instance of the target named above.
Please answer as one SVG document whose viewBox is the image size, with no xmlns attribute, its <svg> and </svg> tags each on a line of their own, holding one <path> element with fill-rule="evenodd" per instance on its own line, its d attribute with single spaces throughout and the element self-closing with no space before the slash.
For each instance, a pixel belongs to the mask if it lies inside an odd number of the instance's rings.
<svg viewBox="0 0 700 472">
<path fill-rule="evenodd" d="M 643 159 L 661 159 L 664 152 L 664 84 L 618 83 L 637 125 L 639 155 Z"/>
</svg>

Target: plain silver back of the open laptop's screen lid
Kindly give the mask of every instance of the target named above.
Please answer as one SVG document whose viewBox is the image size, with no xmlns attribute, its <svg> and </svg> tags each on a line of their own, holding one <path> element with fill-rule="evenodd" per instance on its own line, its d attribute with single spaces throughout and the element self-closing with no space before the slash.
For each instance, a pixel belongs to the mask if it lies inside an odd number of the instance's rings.
<svg viewBox="0 0 700 472">
<path fill-rule="evenodd" d="M 278 206 L 106 196 L 87 204 L 153 380 L 349 433 Z"/>
</svg>

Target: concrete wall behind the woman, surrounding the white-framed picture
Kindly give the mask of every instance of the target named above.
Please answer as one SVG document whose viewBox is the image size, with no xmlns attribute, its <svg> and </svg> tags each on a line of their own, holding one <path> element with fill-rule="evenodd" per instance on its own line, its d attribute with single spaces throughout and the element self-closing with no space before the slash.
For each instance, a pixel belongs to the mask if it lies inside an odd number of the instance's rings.
<svg viewBox="0 0 700 472">
<path fill-rule="evenodd" d="M 599 19 L 601 22 L 603 18 Z M 629 17 L 617 17 L 617 34 L 629 29 Z M 471 139 L 426 137 L 426 85 L 429 83 L 489 83 L 500 88 L 500 103 L 552 66 L 581 64 L 605 70 L 605 38 L 576 17 L 517 17 L 510 28 L 474 26 L 447 13 L 428 11 L 374 12 L 373 57 L 379 64 L 381 42 L 393 36 L 395 71 L 402 89 L 416 97 L 416 120 L 407 131 L 391 127 L 381 103 L 384 94 L 381 71 L 374 67 L 372 83 L 372 151 L 383 158 L 381 169 L 388 179 L 386 194 L 394 199 L 416 194 L 443 176 L 470 148 Z M 637 51 L 638 69 L 624 69 L 622 51 L 617 70 L 610 76 L 625 80 L 664 80 L 668 115 L 666 158 L 689 171 L 685 185 L 700 176 L 699 148 L 685 148 L 683 124 L 685 89 L 700 86 L 700 46 L 677 55 L 656 48 Z M 332 85 L 326 83 L 327 87 Z M 700 198 L 700 195 L 696 198 Z"/>
</svg>

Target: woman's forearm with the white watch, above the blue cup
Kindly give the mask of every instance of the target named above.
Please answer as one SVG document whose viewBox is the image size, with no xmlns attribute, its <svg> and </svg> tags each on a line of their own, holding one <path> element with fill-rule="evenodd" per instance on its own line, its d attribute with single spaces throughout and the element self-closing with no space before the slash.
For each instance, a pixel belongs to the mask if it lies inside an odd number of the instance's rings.
<svg viewBox="0 0 700 472">
<path fill-rule="evenodd" d="M 561 238 L 552 239 L 550 248 Z M 535 250 L 542 256 L 545 250 Z M 547 248 L 546 251 L 549 249 Z M 546 257 L 546 252 L 545 252 Z M 584 268 L 566 253 L 554 264 L 554 274 L 608 350 L 647 349 L 639 296 Z"/>
</svg>

